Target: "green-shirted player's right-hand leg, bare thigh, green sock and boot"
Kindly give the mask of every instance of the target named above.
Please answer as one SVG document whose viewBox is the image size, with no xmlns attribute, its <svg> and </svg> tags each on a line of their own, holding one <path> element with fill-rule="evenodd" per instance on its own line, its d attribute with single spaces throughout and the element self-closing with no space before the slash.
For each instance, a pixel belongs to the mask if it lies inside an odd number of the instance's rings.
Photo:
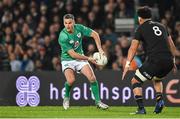
<svg viewBox="0 0 180 119">
<path fill-rule="evenodd" d="M 91 66 L 89 64 L 84 65 L 81 69 L 81 73 L 85 75 L 90 82 L 91 91 L 95 97 L 95 104 L 97 107 L 101 109 L 108 109 L 109 106 L 102 103 L 100 100 L 98 82 Z"/>
</svg>

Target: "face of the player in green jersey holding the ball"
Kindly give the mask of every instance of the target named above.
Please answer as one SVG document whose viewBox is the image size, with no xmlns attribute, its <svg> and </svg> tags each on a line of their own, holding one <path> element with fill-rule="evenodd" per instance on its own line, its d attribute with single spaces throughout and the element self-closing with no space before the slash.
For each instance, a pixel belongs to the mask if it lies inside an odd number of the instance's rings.
<svg viewBox="0 0 180 119">
<path fill-rule="evenodd" d="M 64 26 L 68 32 L 73 32 L 74 30 L 74 20 L 73 19 L 64 19 Z"/>
</svg>

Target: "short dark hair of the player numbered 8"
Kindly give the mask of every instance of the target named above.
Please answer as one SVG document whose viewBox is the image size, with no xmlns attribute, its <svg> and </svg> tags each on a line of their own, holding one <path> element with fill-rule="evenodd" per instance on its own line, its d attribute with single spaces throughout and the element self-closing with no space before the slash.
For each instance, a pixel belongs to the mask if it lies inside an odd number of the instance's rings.
<svg viewBox="0 0 180 119">
<path fill-rule="evenodd" d="M 151 18 L 151 9 L 148 6 L 140 7 L 137 10 L 137 15 L 143 19 Z"/>
</svg>

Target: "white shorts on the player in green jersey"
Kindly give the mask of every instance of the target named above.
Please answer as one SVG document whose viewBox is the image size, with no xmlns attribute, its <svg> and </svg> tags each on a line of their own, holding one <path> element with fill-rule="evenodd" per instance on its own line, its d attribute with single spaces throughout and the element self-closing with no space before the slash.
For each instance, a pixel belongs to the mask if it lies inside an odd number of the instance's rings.
<svg viewBox="0 0 180 119">
<path fill-rule="evenodd" d="M 64 72 L 66 69 L 72 69 L 79 73 L 81 69 L 85 65 L 89 65 L 88 61 L 86 60 L 71 60 L 71 61 L 62 61 L 62 72 Z"/>
</svg>

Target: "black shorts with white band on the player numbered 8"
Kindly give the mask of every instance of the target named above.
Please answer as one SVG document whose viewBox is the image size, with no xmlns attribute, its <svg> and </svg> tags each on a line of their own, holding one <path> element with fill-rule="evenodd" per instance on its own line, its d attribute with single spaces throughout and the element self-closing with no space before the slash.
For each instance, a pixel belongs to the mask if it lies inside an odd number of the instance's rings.
<svg viewBox="0 0 180 119">
<path fill-rule="evenodd" d="M 139 69 L 136 70 L 135 78 L 141 82 L 165 77 L 173 68 L 172 59 L 151 59 L 147 60 Z"/>
</svg>

